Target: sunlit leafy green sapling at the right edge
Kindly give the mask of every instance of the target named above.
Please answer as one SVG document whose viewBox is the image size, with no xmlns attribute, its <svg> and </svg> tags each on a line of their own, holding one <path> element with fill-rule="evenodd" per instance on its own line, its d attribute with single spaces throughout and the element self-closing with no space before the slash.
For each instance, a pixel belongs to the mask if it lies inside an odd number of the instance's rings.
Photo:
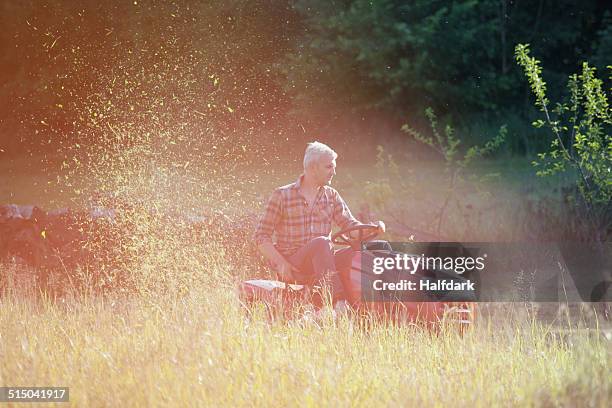
<svg viewBox="0 0 612 408">
<path fill-rule="evenodd" d="M 609 90 L 596 77 L 596 69 L 587 62 L 582 71 L 569 77 L 569 96 L 553 104 L 547 96 L 540 61 L 530 56 L 528 44 L 516 47 L 516 60 L 524 69 L 535 104 L 543 114 L 536 128 L 552 133 L 549 150 L 538 154 L 534 165 L 539 176 L 566 170 L 576 175 L 579 199 L 584 205 L 589 227 L 605 234 L 610 225 L 612 202 L 612 111 Z M 608 67 L 612 70 L 612 66 Z M 602 236 L 598 237 L 603 240 Z"/>
</svg>

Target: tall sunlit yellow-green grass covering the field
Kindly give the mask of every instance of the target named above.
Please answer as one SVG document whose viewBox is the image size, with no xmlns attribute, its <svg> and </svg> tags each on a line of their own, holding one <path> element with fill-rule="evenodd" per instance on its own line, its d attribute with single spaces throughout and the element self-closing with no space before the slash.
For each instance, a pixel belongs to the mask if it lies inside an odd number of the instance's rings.
<svg viewBox="0 0 612 408">
<path fill-rule="evenodd" d="M 523 171 L 525 163 L 517 163 L 507 170 Z M 272 186 L 291 181 L 292 166 L 259 177 L 243 197 L 256 202 Z M 352 206 L 362 199 L 363 180 L 384 176 L 370 169 L 339 168 L 337 186 Z M 13 172 L 0 200 L 46 208 L 71 204 L 70 191 L 41 193 L 40 185 L 54 186 L 55 176 Z M 435 199 L 439 168 L 423 168 L 419 177 L 420 188 L 429 185 L 428 199 Z M 491 184 L 493 197 L 507 202 L 525 184 L 537 183 L 522 175 L 513 180 Z M 612 403 L 612 336 L 591 307 L 554 309 L 540 319 L 530 305 L 484 305 L 463 336 L 382 323 L 363 330 L 347 318 L 321 326 L 269 322 L 263 310 L 249 317 L 241 308 L 234 276 L 247 271 L 228 265 L 222 251 L 203 248 L 200 256 L 187 257 L 173 251 L 180 242 L 172 237 L 153 234 L 150 240 L 155 251 L 132 271 L 143 282 L 136 294 L 51 300 L 29 293 L 23 280 L 9 284 L 0 297 L 0 384 L 68 386 L 74 406 Z"/>
</svg>

